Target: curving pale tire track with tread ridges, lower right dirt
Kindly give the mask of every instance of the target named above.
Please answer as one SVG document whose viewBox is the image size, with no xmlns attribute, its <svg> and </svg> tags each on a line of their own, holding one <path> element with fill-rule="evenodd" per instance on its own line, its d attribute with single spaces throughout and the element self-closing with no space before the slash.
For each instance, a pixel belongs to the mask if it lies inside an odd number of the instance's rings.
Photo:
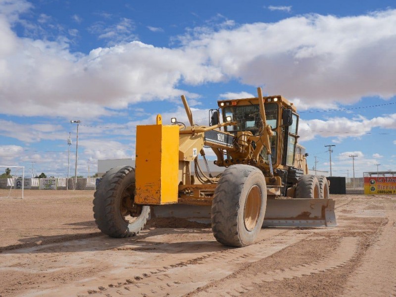
<svg viewBox="0 0 396 297">
<path fill-rule="evenodd" d="M 359 239 L 355 237 L 341 238 L 340 244 L 333 252 L 328 253 L 322 259 L 313 261 L 307 265 L 297 265 L 286 269 L 277 269 L 265 272 L 259 272 L 254 275 L 254 279 L 250 276 L 250 265 L 243 270 L 235 272 L 233 275 L 225 279 L 213 282 L 206 287 L 199 288 L 195 292 L 190 293 L 189 297 L 200 296 L 222 296 L 234 297 L 247 293 L 252 290 L 255 285 L 264 282 L 280 281 L 283 279 L 291 279 L 324 272 L 331 269 L 337 269 L 352 261 L 358 254 Z M 352 247 L 352 248 L 351 248 Z M 254 265 L 255 263 L 253 263 Z M 224 292 L 226 291 L 226 292 Z"/>
</svg>

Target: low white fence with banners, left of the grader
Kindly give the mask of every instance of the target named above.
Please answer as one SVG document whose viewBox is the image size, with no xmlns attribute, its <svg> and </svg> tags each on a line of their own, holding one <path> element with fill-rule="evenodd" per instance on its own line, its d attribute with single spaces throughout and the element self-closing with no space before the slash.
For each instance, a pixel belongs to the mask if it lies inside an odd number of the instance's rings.
<svg viewBox="0 0 396 297">
<path fill-rule="evenodd" d="M 22 178 L 0 178 L 0 189 L 15 188 L 20 185 Z M 66 187 L 67 178 L 25 178 L 24 188 L 32 190 L 96 190 L 96 185 L 100 178 L 69 178 L 68 187 Z"/>
</svg>

